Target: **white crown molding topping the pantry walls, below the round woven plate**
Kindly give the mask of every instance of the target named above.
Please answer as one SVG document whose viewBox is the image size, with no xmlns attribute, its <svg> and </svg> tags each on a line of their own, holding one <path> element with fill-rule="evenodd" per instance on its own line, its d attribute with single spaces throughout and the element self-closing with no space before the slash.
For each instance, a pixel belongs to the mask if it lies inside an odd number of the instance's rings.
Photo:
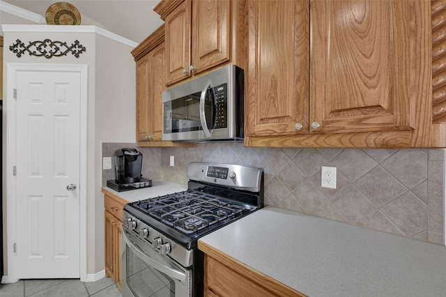
<svg viewBox="0 0 446 297">
<path fill-rule="evenodd" d="M 112 33 L 98 26 L 66 26 L 66 25 L 1 25 L 3 32 L 39 32 L 39 33 L 95 33 L 106 38 L 121 42 L 129 47 L 137 47 L 138 43 L 121 35 Z"/>
</svg>

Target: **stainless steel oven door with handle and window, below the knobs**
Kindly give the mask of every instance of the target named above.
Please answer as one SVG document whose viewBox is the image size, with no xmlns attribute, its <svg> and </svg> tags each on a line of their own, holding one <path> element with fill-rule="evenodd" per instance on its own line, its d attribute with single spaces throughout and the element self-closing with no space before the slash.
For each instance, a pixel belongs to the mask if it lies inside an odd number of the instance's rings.
<svg viewBox="0 0 446 297">
<path fill-rule="evenodd" d="M 123 229 L 123 297 L 191 297 L 192 269 L 160 255 Z"/>
</svg>

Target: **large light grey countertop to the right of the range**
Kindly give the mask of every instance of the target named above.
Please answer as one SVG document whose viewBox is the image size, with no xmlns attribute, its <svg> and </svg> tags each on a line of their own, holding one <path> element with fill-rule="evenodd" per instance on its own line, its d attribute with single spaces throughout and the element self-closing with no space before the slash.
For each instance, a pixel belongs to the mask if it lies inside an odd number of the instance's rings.
<svg viewBox="0 0 446 297">
<path fill-rule="evenodd" d="M 446 248 L 265 207 L 200 241 L 310 297 L 446 296 Z"/>
</svg>

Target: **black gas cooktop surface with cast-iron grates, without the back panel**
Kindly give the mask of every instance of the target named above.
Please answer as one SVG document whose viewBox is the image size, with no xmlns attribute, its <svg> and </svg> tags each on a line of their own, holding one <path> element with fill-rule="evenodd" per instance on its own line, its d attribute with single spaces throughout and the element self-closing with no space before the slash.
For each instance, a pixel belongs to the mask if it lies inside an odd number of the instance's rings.
<svg viewBox="0 0 446 297">
<path fill-rule="evenodd" d="M 257 199 L 245 193 L 228 192 L 227 197 L 231 198 L 236 195 L 239 198 L 245 196 L 245 200 Z M 133 217 L 186 248 L 194 248 L 199 237 L 256 209 L 259 207 L 255 204 L 191 190 L 148 198 L 124 206 L 124 210 Z"/>
</svg>

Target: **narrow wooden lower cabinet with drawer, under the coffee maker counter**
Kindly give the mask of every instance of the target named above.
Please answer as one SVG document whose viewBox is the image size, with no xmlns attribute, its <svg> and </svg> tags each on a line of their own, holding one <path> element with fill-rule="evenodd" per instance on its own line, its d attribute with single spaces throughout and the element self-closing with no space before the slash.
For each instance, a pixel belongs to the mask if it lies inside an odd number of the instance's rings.
<svg viewBox="0 0 446 297">
<path fill-rule="evenodd" d="M 104 192 L 103 190 L 102 192 Z M 122 290 L 121 234 L 125 200 L 114 195 L 104 195 L 105 207 L 105 276 L 112 278 Z"/>
</svg>

